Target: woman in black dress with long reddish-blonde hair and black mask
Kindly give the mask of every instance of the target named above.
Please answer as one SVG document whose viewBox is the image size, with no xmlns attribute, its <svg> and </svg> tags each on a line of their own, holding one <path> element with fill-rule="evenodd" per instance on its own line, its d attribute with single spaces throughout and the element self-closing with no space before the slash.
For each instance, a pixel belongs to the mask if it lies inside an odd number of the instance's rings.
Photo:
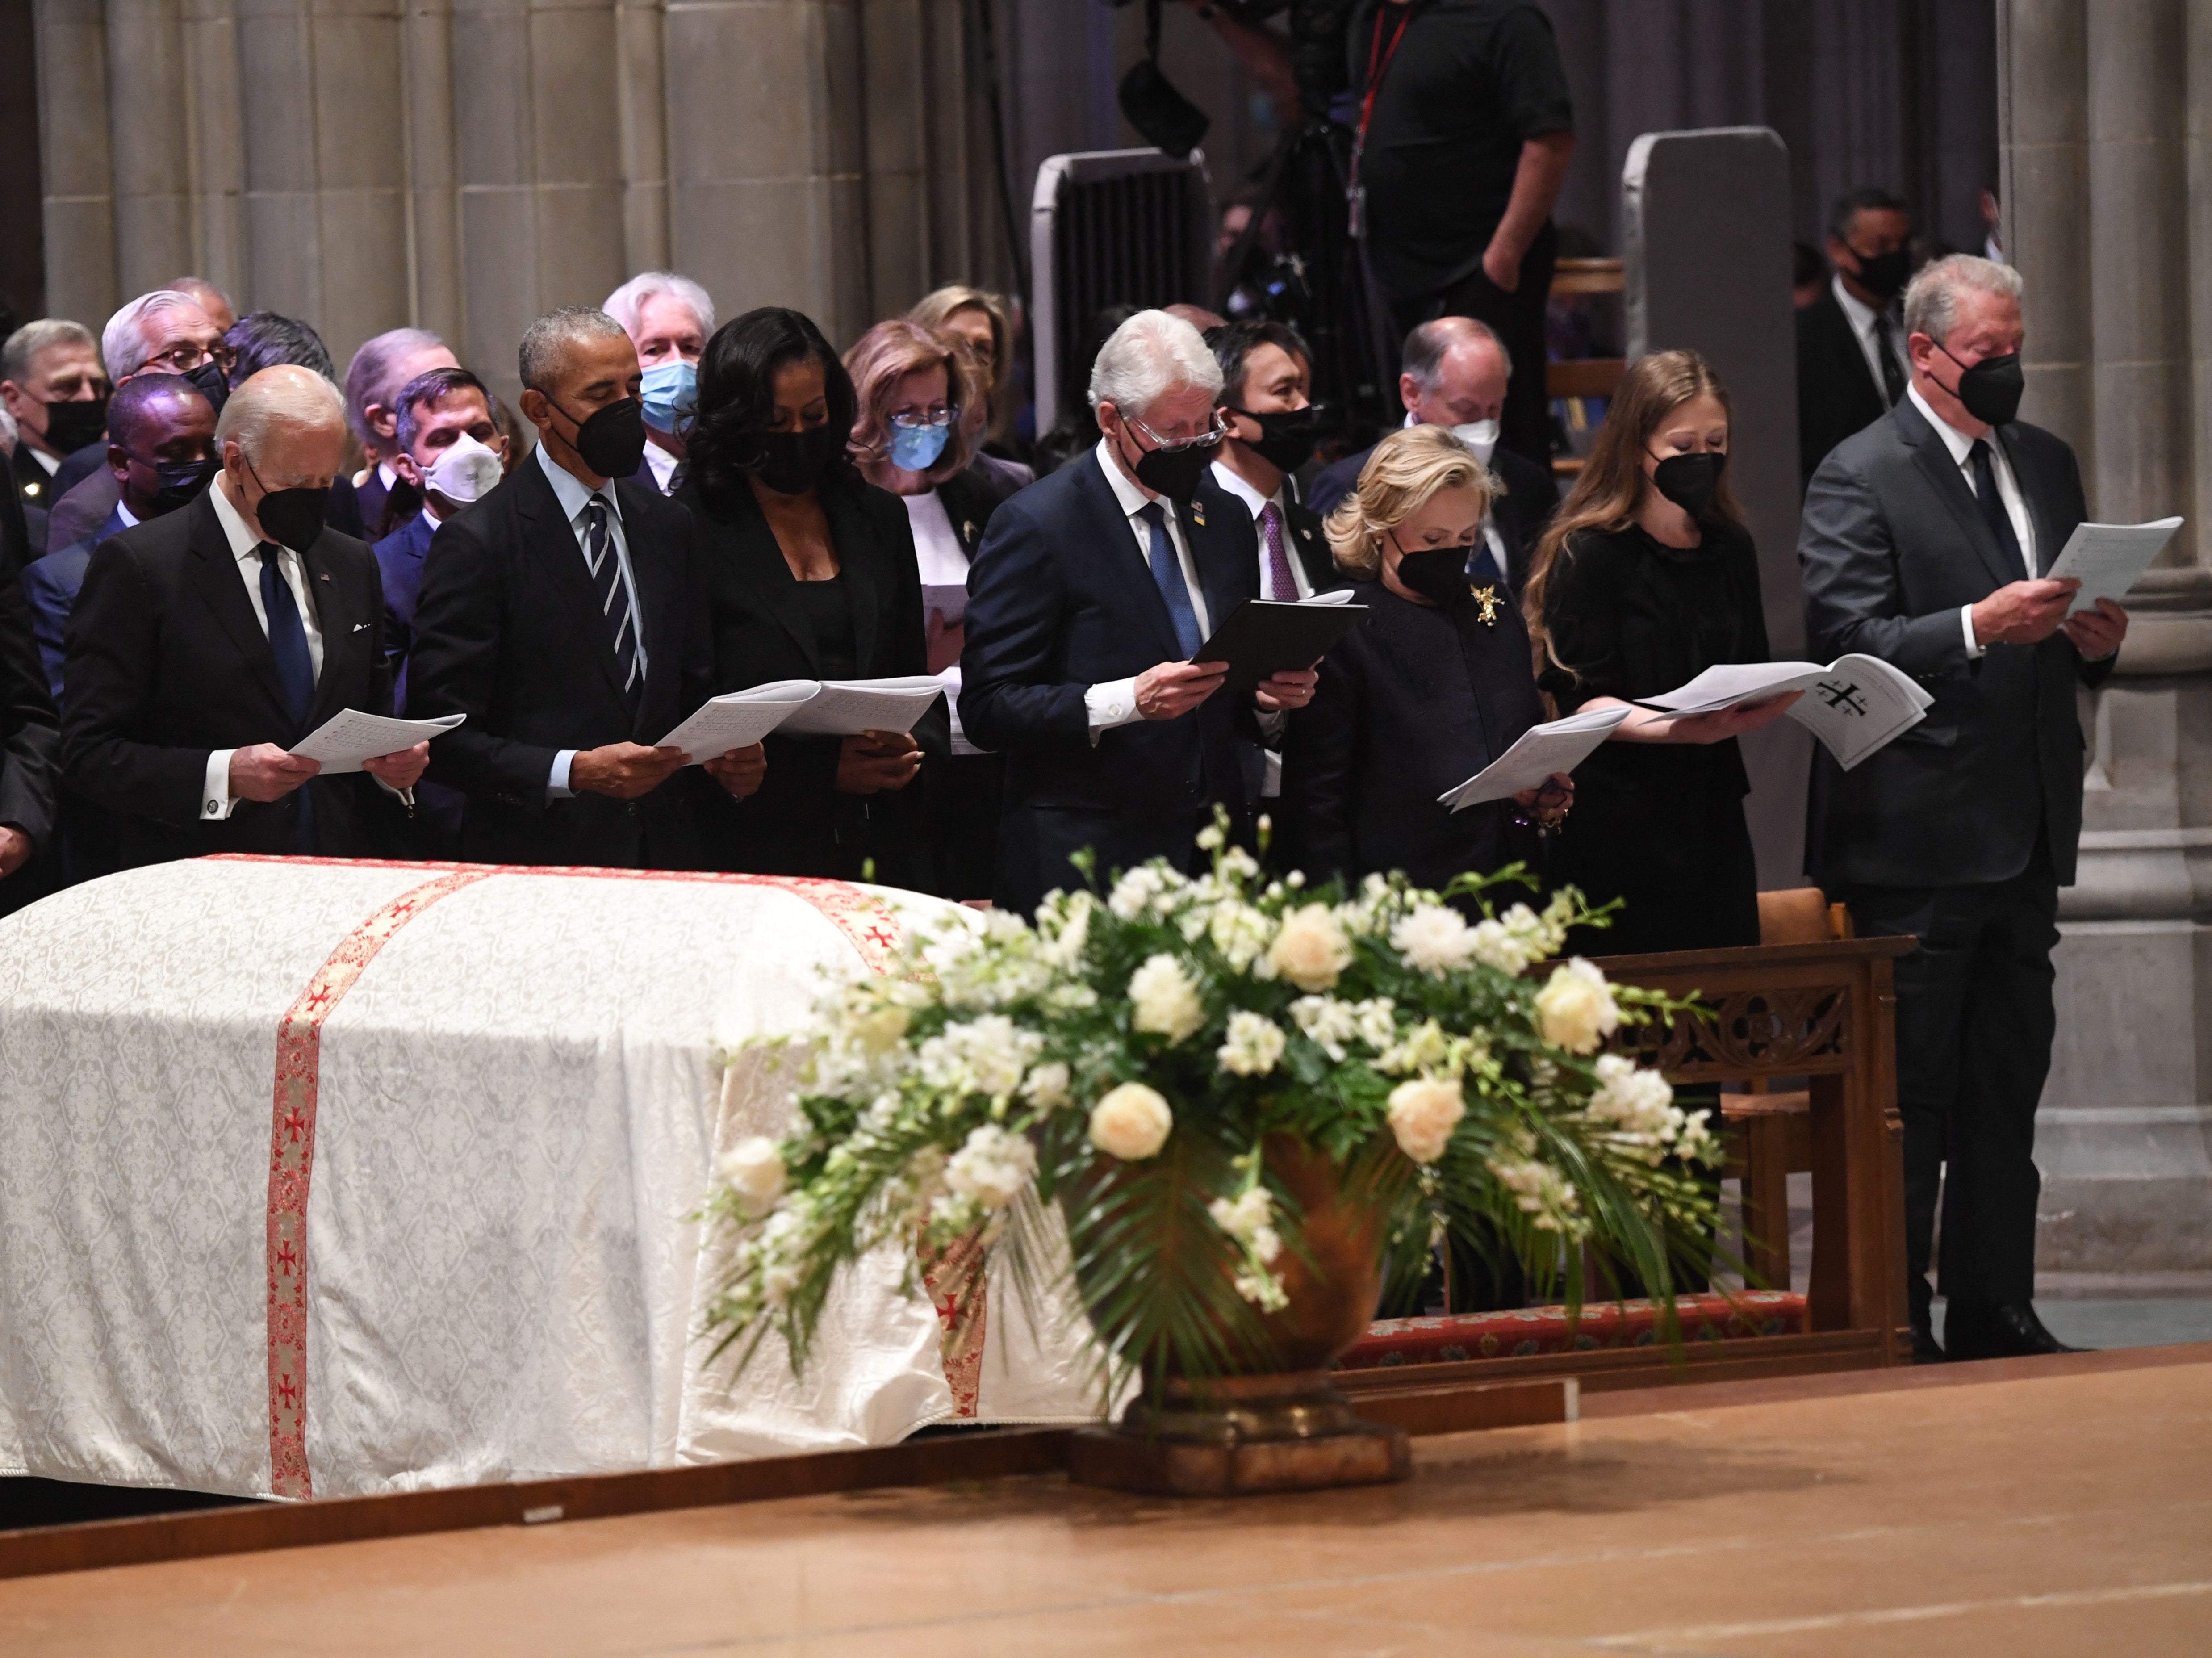
<svg viewBox="0 0 2212 1658">
<path fill-rule="evenodd" d="M 1759 553 L 1728 491 L 1728 392 L 1697 352 L 1630 365 L 1522 595 L 1559 713 L 1632 704 L 1721 662 L 1767 662 Z M 1637 708 L 1575 773 L 1555 874 L 1624 899 L 1597 954 L 1759 943 L 1736 737 L 1794 695 L 1659 719 Z"/>
</svg>

